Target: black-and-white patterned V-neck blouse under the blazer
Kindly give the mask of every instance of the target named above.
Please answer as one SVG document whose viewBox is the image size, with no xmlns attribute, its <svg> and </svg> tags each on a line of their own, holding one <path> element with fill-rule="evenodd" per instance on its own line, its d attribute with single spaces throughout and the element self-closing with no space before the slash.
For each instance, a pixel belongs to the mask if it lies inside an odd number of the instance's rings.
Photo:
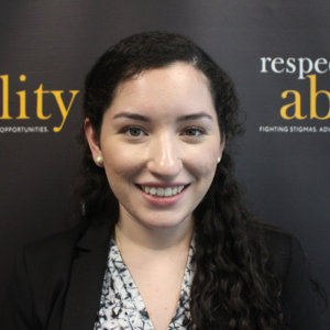
<svg viewBox="0 0 330 330">
<path fill-rule="evenodd" d="M 186 329 L 189 322 L 189 296 L 194 277 L 194 240 L 182 283 L 180 297 L 168 330 Z M 94 330 L 154 330 L 138 287 L 111 240 L 105 273 L 100 309 Z"/>
</svg>

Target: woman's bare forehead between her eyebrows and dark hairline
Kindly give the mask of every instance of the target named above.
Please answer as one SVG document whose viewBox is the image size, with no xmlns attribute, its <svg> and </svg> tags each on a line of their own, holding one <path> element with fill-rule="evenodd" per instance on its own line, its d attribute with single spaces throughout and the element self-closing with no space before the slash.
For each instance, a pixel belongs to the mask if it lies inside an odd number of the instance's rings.
<svg viewBox="0 0 330 330">
<path fill-rule="evenodd" d="M 142 72 L 121 82 L 110 106 L 112 112 L 202 111 L 213 110 L 213 100 L 205 75 L 193 65 L 170 66 Z"/>
</svg>

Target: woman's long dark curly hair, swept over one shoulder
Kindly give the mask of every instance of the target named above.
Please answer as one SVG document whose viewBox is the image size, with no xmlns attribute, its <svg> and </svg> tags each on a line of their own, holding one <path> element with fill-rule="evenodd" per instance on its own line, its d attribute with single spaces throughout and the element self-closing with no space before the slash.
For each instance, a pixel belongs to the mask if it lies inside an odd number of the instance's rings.
<svg viewBox="0 0 330 330">
<path fill-rule="evenodd" d="M 132 35 L 110 47 L 86 78 L 84 116 L 99 136 L 105 111 L 118 85 L 147 69 L 185 62 L 208 78 L 222 138 L 227 145 L 213 182 L 194 212 L 196 273 L 191 286 L 188 329 L 285 329 L 280 286 L 267 271 L 268 254 L 262 228 L 242 201 L 230 155 L 241 132 L 238 99 L 229 76 L 186 37 L 165 32 Z M 81 134 L 82 136 L 82 134 Z M 112 229 L 118 201 L 105 170 L 95 165 L 87 142 L 82 160 L 79 202 L 85 219 L 110 208 Z"/>
</svg>

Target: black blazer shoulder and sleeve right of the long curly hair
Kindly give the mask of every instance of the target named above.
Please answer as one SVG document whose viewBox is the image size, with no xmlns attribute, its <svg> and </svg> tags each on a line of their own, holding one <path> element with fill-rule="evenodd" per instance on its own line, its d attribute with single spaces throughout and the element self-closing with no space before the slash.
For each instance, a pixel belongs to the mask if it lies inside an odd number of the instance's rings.
<svg viewBox="0 0 330 330">
<path fill-rule="evenodd" d="M 290 329 L 319 329 L 317 294 L 306 255 L 290 233 L 264 226 L 270 267 L 280 283 L 283 306 L 289 311 Z"/>
</svg>

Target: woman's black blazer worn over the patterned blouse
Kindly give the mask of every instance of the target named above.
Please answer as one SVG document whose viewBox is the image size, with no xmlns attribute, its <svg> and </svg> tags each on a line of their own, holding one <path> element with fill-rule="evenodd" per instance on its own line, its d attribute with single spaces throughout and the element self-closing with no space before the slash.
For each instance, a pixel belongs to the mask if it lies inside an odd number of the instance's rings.
<svg viewBox="0 0 330 330">
<path fill-rule="evenodd" d="M 3 330 L 92 330 L 107 265 L 110 230 L 95 221 L 24 249 L 12 277 Z M 266 230 L 272 267 L 295 330 L 320 329 L 315 295 L 299 243 Z M 227 329 L 219 324 L 219 329 Z"/>
</svg>

